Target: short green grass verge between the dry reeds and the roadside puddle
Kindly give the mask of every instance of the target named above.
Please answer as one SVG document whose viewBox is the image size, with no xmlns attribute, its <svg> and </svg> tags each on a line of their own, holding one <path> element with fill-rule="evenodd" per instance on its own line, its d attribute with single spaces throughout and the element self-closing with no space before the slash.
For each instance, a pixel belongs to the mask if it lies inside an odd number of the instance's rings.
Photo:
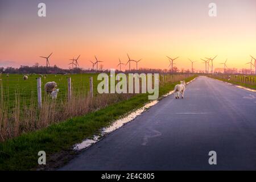
<svg viewBox="0 0 256 182">
<path fill-rule="evenodd" d="M 194 77 L 185 79 L 186 82 Z M 159 96 L 174 89 L 177 84 L 165 84 Z M 53 124 L 46 129 L 22 134 L 0 143 L 0 170 L 29 170 L 38 166 L 38 152 L 46 151 L 47 158 L 56 152 L 68 150 L 85 138 L 92 137 L 102 127 L 148 102 L 147 94 L 138 94 L 129 100 L 110 105 L 105 109 L 81 117 Z"/>
</svg>

